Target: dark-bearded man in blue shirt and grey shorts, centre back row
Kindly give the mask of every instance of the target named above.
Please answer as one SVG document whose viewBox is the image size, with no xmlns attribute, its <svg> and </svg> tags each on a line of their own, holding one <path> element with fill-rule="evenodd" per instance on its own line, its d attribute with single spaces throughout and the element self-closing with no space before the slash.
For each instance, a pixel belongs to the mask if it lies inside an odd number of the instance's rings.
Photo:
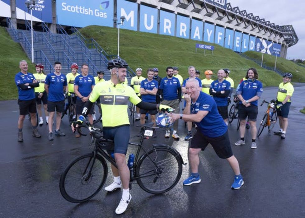
<svg viewBox="0 0 305 218">
<path fill-rule="evenodd" d="M 175 111 L 179 111 L 179 104 L 181 101 L 181 86 L 178 78 L 173 77 L 173 67 L 166 68 L 167 76 L 164 77 L 160 82 L 160 95 L 162 96 L 162 104 L 172 107 Z M 169 128 L 166 128 L 165 137 L 169 138 L 170 135 L 179 140 L 177 134 L 178 121 L 174 122 L 174 131 L 171 135 Z"/>
</svg>

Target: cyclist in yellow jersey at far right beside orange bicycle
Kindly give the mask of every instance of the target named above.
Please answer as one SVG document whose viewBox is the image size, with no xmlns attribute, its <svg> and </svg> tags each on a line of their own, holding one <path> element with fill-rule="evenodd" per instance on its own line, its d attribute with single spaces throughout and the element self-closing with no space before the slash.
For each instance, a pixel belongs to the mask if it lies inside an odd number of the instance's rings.
<svg viewBox="0 0 305 218">
<path fill-rule="evenodd" d="M 288 114 L 291 104 L 291 96 L 294 88 L 290 83 L 292 79 L 291 73 L 285 73 L 283 75 L 283 82 L 279 84 L 279 90 L 277 93 L 276 108 L 279 116 L 280 130 L 274 132 L 275 135 L 280 135 L 282 139 L 286 138 L 286 130 L 288 127 Z"/>
</svg>

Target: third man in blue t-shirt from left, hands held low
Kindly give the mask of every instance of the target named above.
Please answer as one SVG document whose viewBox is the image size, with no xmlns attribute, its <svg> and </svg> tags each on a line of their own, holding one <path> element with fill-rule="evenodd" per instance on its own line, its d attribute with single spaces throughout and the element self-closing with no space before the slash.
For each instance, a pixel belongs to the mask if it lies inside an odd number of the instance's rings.
<svg viewBox="0 0 305 218">
<path fill-rule="evenodd" d="M 76 114 L 77 118 L 82 114 L 82 109 L 84 108 L 85 103 L 89 100 L 89 96 L 93 87 L 95 86 L 94 77 L 89 75 L 89 66 L 83 64 L 81 67 L 81 75 L 75 77 L 74 80 L 74 93 L 77 96 L 76 99 Z M 93 124 L 93 108 L 88 113 L 89 123 Z M 81 135 L 77 132 L 75 137 L 80 137 Z"/>
</svg>

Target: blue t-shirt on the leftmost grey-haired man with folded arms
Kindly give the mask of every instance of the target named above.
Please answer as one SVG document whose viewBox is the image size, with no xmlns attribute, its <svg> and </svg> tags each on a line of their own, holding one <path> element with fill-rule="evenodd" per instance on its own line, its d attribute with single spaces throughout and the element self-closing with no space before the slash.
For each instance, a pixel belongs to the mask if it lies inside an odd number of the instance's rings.
<svg viewBox="0 0 305 218">
<path fill-rule="evenodd" d="M 33 83 L 33 80 L 35 80 L 35 77 L 32 73 L 17 73 L 15 76 L 15 83 L 18 88 L 18 99 L 20 100 L 32 100 L 35 98 L 35 92 L 34 88 L 22 90 L 18 85 L 19 84 L 25 84 L 25 83 Z"/>
</svg>

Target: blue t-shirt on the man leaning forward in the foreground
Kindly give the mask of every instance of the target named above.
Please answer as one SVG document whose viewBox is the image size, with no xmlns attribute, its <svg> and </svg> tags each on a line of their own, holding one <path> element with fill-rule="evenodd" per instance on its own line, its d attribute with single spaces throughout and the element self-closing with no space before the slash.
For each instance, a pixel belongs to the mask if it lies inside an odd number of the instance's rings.
<svg viewBox="0 0 305 218">
<path fill-rule="evenodd" d="M 228 126 L 218 112 L 217 105 L 213 97 L 200 91 L 199 97 L 195 103 L 191 103 L 191 114 L 197 114 L 199 110 L 209 111 L 209 113 L 196 123 L 198 131 L 207 137 L 219 137 L 225 134 Z"/>
</svg>

